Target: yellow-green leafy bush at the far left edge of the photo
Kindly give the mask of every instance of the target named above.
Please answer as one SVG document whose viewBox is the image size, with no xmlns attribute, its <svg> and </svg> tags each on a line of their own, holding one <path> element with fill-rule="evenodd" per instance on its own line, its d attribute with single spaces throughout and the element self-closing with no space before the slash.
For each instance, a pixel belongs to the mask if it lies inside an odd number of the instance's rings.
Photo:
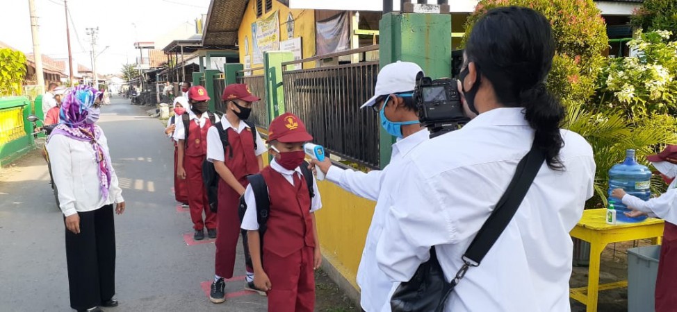
<svg viewBox="0 0 677 312">
<path fill-rule="evenodd" d="M 26 55 L 21 51 L 0 49 L 0 96 L 22 94 L 26 75 Z"/>
</svg>

